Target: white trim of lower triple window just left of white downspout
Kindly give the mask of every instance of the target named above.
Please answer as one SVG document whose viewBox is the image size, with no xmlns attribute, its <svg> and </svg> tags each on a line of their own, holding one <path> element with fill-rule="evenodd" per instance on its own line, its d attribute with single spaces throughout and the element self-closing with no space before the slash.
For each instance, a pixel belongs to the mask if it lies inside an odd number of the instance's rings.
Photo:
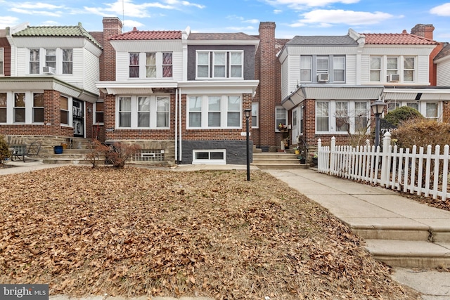
<svg viewBox="0 0 450 300">
<path fill-rule="evenodd" d="M 121 127 L 119 126 L 119 99 L 121 97 L 131 98 L 131 126 Z M 157 98 L 158 97 L 168 97 L 164 95 L 158 96 L 148 96 L 150 97 L 150 126 L 139 127 L 138 126 L 138 97 L 130 95 L 118 95 L 115 98 L 115 129 L 138 129 L 138 130 L 165 130 L 170 129 L 170 126 L 158 127 L 157 126 Z M 169 117 L 170 117 L 170 107 L 169 107 Z M 170 125 L 170 122 L 169 122 Z"/>
</svg>

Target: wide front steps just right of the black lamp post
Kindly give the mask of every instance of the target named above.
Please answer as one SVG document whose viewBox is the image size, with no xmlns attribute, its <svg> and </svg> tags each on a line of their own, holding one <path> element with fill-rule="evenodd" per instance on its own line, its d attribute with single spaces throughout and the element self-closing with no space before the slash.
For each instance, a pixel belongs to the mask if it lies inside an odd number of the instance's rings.
<svg viewBox="0 0 450 300">
<path fill-rule="evenodd" d="M 253 152 L 252 166 L 259 169 L 306 169 L 297 154 L 288 152 Z"/>
</svg>

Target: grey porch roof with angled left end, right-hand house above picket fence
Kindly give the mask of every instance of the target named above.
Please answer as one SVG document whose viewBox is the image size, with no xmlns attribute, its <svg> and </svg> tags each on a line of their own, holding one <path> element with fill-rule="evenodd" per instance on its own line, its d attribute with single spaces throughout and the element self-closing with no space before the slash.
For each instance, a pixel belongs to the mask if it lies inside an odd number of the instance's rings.
<svg viewBox="0 0 450 300">
<path fill-rule="evenodd" d="M 376 100 L 383 93 L 384 86 L 350 86 L 301 84 L 297 90 L 281 101 L 286 110 L 299 105 L 305 99 L 335 99 L 335 100 Z"/>
</svg>

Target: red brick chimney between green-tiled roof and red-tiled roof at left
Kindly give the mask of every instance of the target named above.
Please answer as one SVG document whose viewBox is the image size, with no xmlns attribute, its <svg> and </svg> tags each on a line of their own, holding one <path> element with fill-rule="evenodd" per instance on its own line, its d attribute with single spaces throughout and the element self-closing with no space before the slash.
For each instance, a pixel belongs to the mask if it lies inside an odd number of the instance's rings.
<svg viewBox="0 0 450 300">
<path fill-rule="evenodd" d="M 122 22 L 119 18 L 103 18 L 103 68 L 100 72 L 101 81 L 115 81 L 115 50 L 108 39 L 121 33 Z"/>
</svg>

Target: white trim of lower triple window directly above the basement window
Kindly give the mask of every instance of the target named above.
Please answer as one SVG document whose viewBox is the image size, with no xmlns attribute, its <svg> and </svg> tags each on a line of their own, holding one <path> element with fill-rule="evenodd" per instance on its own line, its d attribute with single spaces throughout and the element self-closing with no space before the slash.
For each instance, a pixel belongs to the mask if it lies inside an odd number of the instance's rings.
<svg viewBox="0 0 450 300">
<path fill-rule="evenodd" d="M 221 126 L 214 126 L 214 127 L 210 127 L 208 126 L 208 112 L 209 112 L 209 107 L 208 107 L 208 98 L 210 96 L 219 96 L 221 97 L 221 101 L 220 101 L 220 105 L 221 105 L 221 109 L 220 109 L 220 124 Z M 239 115 L 239 125 L 238 126 L 228 126 L 228 97 L 229 96 L 236 96 L 240 98 L 240 115 Z M 189 101 L 191 97 L 200 97 L 201 101 L 202 101 L 202 107 L 201 107 L 201 126 L 194 126 L 191 127 L 189 126 Z M 242 94 L 229 94 L 229 95 L 187 95 L 187 105 L 186 107 L 188 107 L 188 109 L 186 110 L 186 129 L 241 129 L 242 128 L 242 101 L 243 101 L 243 97 Z"/>
</svg>

